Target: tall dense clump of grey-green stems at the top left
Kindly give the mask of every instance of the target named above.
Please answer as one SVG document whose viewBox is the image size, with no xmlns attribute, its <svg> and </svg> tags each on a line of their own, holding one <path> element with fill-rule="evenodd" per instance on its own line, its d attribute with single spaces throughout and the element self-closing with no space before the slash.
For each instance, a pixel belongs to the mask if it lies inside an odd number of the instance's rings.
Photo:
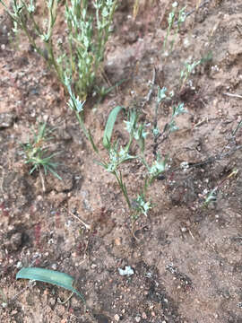
<svg viewBox="0 0 242 323">
<path fill-rule="evenodd" d="M 65 84 L 67 75 L 73 80 L 74 91 L 85 99 L 104 58 L 117 0 L 66 0 L 67 44 L 65 38 L 56 42 L 53 39 L 60 12 L 59 0 L 46 0 L 48 19 L 42 24 L 36 19 L 38 13 L 34 0 L 13 0 L 12 10 L 4 0 L 0 3 L 13 20 L 14 31 L 24 31 L 30 45 L 54 68 L 60 82 Z"/>
</svg>

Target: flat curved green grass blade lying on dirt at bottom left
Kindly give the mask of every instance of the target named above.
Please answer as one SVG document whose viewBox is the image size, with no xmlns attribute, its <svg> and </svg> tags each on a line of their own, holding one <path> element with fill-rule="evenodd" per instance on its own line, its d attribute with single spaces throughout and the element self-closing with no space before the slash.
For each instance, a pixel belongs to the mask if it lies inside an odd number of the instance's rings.
<svg viewBox="0 0 242 323">
<path fill-rule="evenodd" d="M 73 277 L 65 273 L 45 268 L 26 267 L 22 268 L 17 273 L 16 279 L 19 278 L 31 279 L 48 284 L 56 284 L 56 286 L 63 287 L 68 291 L 76 293 L 81 297 L 82 301 L 84 301 L 82 294 L 73 288 Z"/>
</svg>

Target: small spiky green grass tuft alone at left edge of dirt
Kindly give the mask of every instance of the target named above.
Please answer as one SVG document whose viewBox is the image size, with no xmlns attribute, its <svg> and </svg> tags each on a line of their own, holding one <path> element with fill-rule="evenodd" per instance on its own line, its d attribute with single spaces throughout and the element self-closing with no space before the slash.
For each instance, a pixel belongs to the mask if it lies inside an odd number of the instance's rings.
<svg viewBox="0 0 242 323">
<path fill-rule="evenodd" d="M 47 124 L 39 124 L 37 133 L 33 132 L 32 140 L 27 144 L 22 144 L 23 152 L 25 155 L 25 163 L 31 165 L 30 174 L 35 170 L 44 170 L 47 175 L 48 171 L 51 172 L 57 179 L 61 177 L 56 173 L 57 162 L 53 162 L 53 158 L 58 153 L 48 155 L 48 142 L 51 140 L 51 133 L 54 129 L 48 129 Z"/>
</svg>

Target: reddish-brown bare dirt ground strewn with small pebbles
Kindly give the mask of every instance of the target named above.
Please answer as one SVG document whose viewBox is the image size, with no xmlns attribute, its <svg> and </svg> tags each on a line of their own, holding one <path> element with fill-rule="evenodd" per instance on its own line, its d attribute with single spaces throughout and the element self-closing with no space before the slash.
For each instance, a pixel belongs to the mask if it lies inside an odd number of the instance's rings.
<svg viewBox="0 0 242 323">
<path fill-rule="evenodd" d="M 198 1 L 181 1 L 186 13 Z M 188 114 L 179 130 L 160 147 L 171 169 L 187 170 L 157 180 L 149 196 L 154 208 L 135 224 L 117 183 L 94 162 L 63 91 L 24 37 L 10 39 L 12 25 L 1 7 L 0 23 L 0 306 L 1 322 L 242 322 L 242 4 L 207 1 L 192 12 L 178 34 L 173 53 L 161 55 L 172 1 L 146 1 L 134 20 L 133 1 L 123 1 L 108 42 L 105 71 L 117 92 L 95 105 L 86 103 L 86 123 L 101 149 L 108 113 L 117 105 L 141 109 L 152 123 L 156 93 L 143 105 L 156 70 L 156 85 L 174 90 Z M 202 3 L 201 3 L 202 4 Z M 61 29 L 60 29 L 61 30 Z M 208 57 L 182 92 L 184 63 Z M 237 94 L 232 96 L 231 94 Z M 95 109 L 93 109 L 95 108 Z M 171 106 L 159 112 L 159 126 Z M 53 152 L 61 151 L 60 181 L 29 174 L 22 147 L 38 120 L 48 119 Z M 117 137 L 125 141 L 122 118 Z M 152 137 L 147 157 L 153 159 Z M 105 152 L 103 152 L 105 153 Z M 210 157 L 214 157 L 210 159 Z M 221 157 L 221 158 L 219 158 Z M 196 163 L 201 163 L 199 166 Z M 233 170 L 237 174 L 229 177 Z M 143 166 L 124 167 L 131 196 L 141 187 Z M 218 189 L 217 201 L 203 207 L 206 194 Z M 91 231 L 78 221 L 91 225 Z M 86 305 L 49 284 L 16 281 L 22 266 L 40 266 L 73 275 Z M 134 275 L 120 275 L 131 266 Z"/>
</svg>

